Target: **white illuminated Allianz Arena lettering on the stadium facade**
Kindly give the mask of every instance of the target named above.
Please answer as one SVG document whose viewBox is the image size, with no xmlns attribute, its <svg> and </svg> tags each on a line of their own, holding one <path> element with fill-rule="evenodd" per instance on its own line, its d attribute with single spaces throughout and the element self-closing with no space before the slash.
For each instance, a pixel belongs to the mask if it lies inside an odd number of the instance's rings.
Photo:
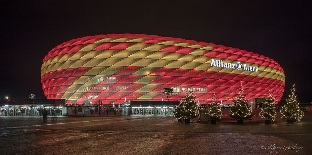
<svg viewBox="0 0 312 155">
<path fill-rule="evenodd" d="M 245 63 L 242 64 L 241 62 L 237 62 L 236 64 L 234 64 L 234 63 L 224 63 L 222 60 L 211 59 L 210 66 L 232 68 L 232 69 L 245 70 L 245 71 L 251 71 L 251 72 L 259 72 L 259 68 L 247 66 Z"/>
</svg>

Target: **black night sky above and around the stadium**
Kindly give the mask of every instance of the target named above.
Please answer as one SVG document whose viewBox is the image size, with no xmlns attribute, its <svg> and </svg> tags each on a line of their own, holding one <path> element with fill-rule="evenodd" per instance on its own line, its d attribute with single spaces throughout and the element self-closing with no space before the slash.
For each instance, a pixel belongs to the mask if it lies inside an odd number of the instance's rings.
<svg viewBox="0 0 312 155">
<path fill-rule="evenodd" d="M 170 36 L 259 53 L 312 102 L 311 5 L 299 1 L 1 1 L 0 98 L 45 98 L 40 72 L 56 45 L 109 33 Z M 284 102 L 283 100 L 281 102 Z"/>
</svg>

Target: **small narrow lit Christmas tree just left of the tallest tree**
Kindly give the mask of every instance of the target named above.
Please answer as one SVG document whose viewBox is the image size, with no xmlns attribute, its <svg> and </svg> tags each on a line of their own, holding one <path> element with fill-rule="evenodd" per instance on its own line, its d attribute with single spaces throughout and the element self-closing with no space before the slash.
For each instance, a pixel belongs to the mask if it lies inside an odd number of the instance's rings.
<svg viewBox="0 0 312 155">
<path fill-rule="evenodd" d="M 213 100 L 210 102 L 206 113 L 207 118 L 210 119 L 212 123 L 215 123 L 216 120 L 221 120 L 222 111 L 219 105 L 220 104 L 216 101 L 215 93 L 213 93 Z"/>
</svg>

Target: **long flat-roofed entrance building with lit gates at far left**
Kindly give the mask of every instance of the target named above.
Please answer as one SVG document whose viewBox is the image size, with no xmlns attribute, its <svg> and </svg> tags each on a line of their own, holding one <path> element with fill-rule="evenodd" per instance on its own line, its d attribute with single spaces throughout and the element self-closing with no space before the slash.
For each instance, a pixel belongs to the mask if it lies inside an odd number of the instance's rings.
<svg viewBox="0 0 312 155">
<path fill-rule="evenodd" d="M 48 115 L 62 115 L 65 99 L 0 99 L 0 116 L 41 116 L 46 108 Z"/>
</svg>

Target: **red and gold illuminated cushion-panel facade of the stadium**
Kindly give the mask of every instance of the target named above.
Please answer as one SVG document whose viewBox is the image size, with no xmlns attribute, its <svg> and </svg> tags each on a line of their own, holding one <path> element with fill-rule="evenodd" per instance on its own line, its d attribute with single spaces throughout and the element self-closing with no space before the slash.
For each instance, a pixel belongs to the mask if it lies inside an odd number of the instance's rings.
<svg viewBox="0 0 312 155">
<path fill-rule="evenodd" d="M 43 59 L 42 89 L 48 99 L 67 104 L 122 104 L 179 101 L 188 88 L 208 104 L 216 93 L 232 102 L 237 88 L 247 99 L 265 98 L 271 91 L 280 101 L 285 75 L 273 59 L 206 42 L 144 34 L 108 34 L 73 39 L 53 48 Z M 277 102 L 278 103 L 278 102 Z"/>
</svg>

